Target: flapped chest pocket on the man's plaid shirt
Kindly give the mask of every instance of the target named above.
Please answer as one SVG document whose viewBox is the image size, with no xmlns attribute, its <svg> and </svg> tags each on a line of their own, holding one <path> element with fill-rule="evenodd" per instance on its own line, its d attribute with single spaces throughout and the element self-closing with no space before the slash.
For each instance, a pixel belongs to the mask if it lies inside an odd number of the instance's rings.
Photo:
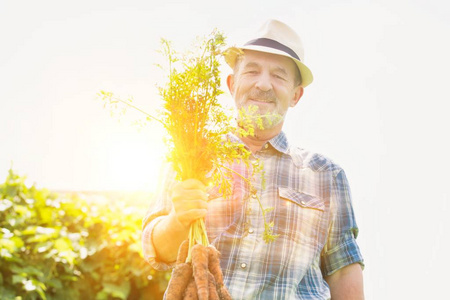
<svg viewBox="0 0 450 300">
<path fill-rule="evenodd" d="M 314 245 L 319 243 L 324 201 L 316 196 L 290 188 L 278 188 L 279 202 L 276 214 L 276 231 L 280 236 L 301 243 Z"/>
</svg>

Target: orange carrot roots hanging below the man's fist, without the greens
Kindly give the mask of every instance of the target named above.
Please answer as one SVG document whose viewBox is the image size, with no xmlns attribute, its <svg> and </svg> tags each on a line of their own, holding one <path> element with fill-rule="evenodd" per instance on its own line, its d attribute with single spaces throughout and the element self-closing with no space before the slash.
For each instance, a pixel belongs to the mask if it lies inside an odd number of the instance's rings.
<svg viewBox="0 0 450 300">
<path fill-rule="evenodd" d="M 196 244 L 188 257 L 189 240 L 178 251 L 176 266 L 166 291 L 167 300 L 231 300 L 223 283 L 219 252 L 212 246 Z"/>
</svg>

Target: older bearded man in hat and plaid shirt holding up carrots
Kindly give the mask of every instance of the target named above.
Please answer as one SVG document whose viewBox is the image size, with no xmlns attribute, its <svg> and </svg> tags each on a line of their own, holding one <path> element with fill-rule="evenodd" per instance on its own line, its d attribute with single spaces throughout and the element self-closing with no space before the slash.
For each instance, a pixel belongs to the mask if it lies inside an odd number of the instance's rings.
<svg viewBox="0 0 450 300">
<path fill-rule="evenodd" d="M 249 188 L 236 177 L 232 196 L 222 198 L 197 180 L 176 182 L 169 172 L 144 219 L 146 260 L 160 270 L 173 266 L 189 225 L 205 218 L 233 299 L 364 299 L 363 258 L 344 171 L 291 146 L 282 131 L 288 109 L 313 80 L 299 36 L 269 20 L 254 39 L 229 48 L 225 59 L 233 69 L 227 85 L 236 107 L 257 107 L 264 121 L 252 136 L 231 136 L 263 163 L 265 183 L 256 177 Z M 278 236 L 269 244 L 261 237 L 257 197 L 273 208 L 269 218 Z"/>
</svg>

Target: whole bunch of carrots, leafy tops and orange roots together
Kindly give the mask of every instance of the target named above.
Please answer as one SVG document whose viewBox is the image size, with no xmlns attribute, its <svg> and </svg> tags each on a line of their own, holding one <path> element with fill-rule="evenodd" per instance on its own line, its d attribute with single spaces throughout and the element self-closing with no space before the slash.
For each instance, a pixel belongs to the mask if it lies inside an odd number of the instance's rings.
<svg viewBox="0 0 450 300">
<path fill-rule="evenodd" d="M 219 187 L 219 192 L 226 197 L 231 194 L 231 178 L 236 174 L 226 165 L 239 161 L 249 166 L 251 152 L 242 143 L 224 139 L 234 128 L 231 117 L 218 102 L 218 96 L 223 93 L 218 58 L 225 45 L 224 37 L 213 32 L 195 53 L 184 57 L 179 57 L 168 41 L 162 40 L 162 44 L 169 60 L 169 82 L 159 90 L 164 103 L 159 118 L 133 106 L 131 99 L 123 101 L 104 91 L 100 96 L 113 109 L 118 103 L 126 104 L 144 113 L 147 121 L 162 124 L 167 132 L 167 159 L 177 179 L 198 179 Z M 239 134 L 248 135 L 252 131 L 249 125 Z M 261 170 L 261 165 L 254 164 L 250 169 L 253 176 Z M 248 178 L 237 175 L 251 184 Z M 266 221 L 265 224 L 264 240 L 269 242 L 275 238 L 273 224 Z M 178 256 L 166 293 L 168 300 L 231 299 L 223 284 L 219 253 L 209 244 L 203 219 L 191 224 L 189 239 L 181 245 Z"/>
</svg>

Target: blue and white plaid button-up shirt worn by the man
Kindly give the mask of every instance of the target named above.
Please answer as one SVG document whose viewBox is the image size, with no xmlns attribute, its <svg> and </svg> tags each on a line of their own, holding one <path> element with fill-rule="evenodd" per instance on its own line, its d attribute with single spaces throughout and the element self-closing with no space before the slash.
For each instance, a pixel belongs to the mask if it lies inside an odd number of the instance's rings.
<svg viewBox="0 0 450 300">
<path fill-rule="evenodd" d="M 255 176 L 250 189 L 236 175 L 231 197 L 215 188 L 209 192 L 206 228 L 221 252 L 226 286 L 233 299 L 330 299 L 323 276 L 352 263 L 363 265 L 344 171 L 324 156 L 289 147 L 284 133 L 253 156 L 263 163 L 265 184 Z M 249 175 L 243 164 L 233 169 Z M 143 232 L 144 256 L 159 270 L 173 266 L 158 261 L 151 243 L 154 225 L 171 209 L 167 192 L 174 174 L 166 177 Z M 269 244 L 262 239 L 258 197 L 264 208 L 273 208 L 266 218 L 278 237 Z"/>
</svg>

